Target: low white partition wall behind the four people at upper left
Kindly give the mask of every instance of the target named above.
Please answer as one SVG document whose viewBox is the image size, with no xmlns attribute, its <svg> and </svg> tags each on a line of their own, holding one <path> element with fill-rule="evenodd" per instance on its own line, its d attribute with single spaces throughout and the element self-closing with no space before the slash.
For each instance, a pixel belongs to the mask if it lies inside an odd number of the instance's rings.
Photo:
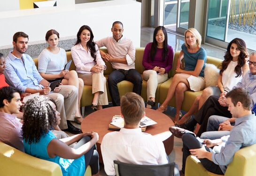
<svg viewBox="0 0 256 176">
<path fill-rule="evenodd" d="M 38 44 L 45 43 L 45 34 L 50 29 L 57 30 L 61 38 L 71 38 L 84 24 L 92 28 L 94 40 L 98 40 L 112 35 L 110 29 L 114 21 L 121 21 L 123 34 L 140 47 L 140 19 L 141 4 L 134 0 L 0 12 L 0 49 L 11 46 L 12 36 L 17 31 L 27 33 L 30 44 Z"/>
</svg>

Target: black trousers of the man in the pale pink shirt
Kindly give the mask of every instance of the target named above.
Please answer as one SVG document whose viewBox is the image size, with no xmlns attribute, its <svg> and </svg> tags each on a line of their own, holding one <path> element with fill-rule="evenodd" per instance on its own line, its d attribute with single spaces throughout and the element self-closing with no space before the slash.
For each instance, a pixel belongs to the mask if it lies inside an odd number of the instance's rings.
<svg viewBox="0 0 256 176">
<path fill-rule="evenodd" d="M 136 69 L 116 69 L 112 71 L 108 78 L 109 93 L 112 99 L 113 106 L 120 106 L 120 96 L 117 83 L 127 80 L 133 84 L 132 92 L 140 95 L 142 89 L 142 77 Z"/>
</svg>

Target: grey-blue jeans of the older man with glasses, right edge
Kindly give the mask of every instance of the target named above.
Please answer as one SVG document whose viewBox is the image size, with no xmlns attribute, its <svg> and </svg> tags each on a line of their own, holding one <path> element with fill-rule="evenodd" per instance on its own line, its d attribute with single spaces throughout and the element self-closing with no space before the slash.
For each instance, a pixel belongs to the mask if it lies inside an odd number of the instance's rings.
<svg viewBox="0 0 256 176">
<path fill-rule="evenodd" d="M 218 139 L 223 136 L 230 135 L 230 131 L 218 131 L 219 124 L 225 122 L 227 117 L 219 115 L 211 115 L 207 123 L 207 131 L 203 132 L 201 137 L 202 139 Z M 233 124 L 232 124 L 233 125 Z"/>
</svg>

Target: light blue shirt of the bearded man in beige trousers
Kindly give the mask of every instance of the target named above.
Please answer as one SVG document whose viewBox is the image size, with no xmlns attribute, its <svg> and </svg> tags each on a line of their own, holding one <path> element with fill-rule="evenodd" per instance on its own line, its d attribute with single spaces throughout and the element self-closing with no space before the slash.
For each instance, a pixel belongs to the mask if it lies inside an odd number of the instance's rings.
<svg viewBox="0 0 256 176">
<path fill-rule="evenodd" d="M 17 87 L 23 92 L 27 88 L 40 89 L 40 76 L 33 59 L 28 54 L 22 54 L 22 59 L 17 58 L 9 52 L 6 57 L 6 69 L 4 72 L 7 83 L 10 86 Z"/>
</svg>

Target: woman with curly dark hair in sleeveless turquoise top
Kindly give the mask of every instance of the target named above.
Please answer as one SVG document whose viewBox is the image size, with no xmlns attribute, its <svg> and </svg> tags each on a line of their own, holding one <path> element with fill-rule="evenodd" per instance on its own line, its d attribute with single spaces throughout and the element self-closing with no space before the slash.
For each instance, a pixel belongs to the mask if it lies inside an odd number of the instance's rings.
<svg viewBox="0 0 256 176">
<path fill-rule="evenodd" d="M 63 176 L 84 176 L 88 165 L 99 174 L 99 155 L 95 143 L 99 136 L 88 132 L 57 139 L 49 130 L 60 121 L 53 99 L 36 96 L 24 105 L 23 144 L 25 153 L 60 165 Z M 79 141 L 78 141 L 79 140 Z M 68 145 L 78 143 L 74 148 Z"/>
</svg>

